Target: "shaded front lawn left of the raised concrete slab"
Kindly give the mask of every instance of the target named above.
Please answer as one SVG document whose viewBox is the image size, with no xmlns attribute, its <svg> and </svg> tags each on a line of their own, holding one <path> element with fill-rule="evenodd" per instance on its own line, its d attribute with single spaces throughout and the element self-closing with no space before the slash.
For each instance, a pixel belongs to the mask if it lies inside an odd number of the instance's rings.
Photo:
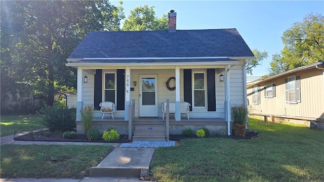
<svg viewBox="0 0 324 182">
<path fill-rule="evenodd" d="M 2 178 L 83 178 L 111 146 L 2 145 Z"/>
</svg>

